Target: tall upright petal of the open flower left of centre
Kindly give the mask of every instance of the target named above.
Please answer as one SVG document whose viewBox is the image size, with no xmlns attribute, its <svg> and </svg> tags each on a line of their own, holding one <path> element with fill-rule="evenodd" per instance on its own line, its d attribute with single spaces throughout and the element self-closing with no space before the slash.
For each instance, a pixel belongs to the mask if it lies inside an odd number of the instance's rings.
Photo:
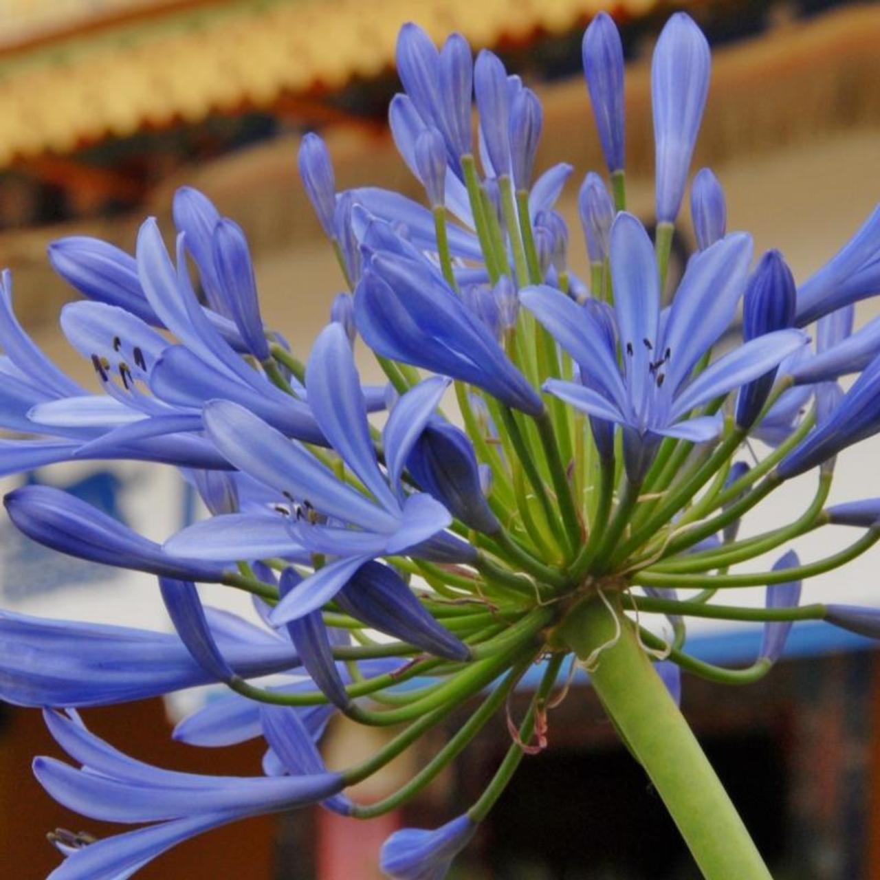
<svg viewBox="0 0 880 880">
<path fill-rule="evenodd" d="M 399 514 L 400 504 L 378 468 L 361 379 L 341 325 L 328 324 L 315 340 L 305 371 L 305 388 L 329 444 L 385 510 Z"/>
</svg>

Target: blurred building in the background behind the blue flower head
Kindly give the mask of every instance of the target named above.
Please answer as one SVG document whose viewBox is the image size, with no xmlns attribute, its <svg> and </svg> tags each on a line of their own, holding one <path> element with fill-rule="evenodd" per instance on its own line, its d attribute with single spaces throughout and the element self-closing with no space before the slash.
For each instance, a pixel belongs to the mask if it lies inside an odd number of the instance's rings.
<svg viewBox="0 0 880 880">
<path fill-rule="evenodd" d="M 0 266 L 15 306 L 65 370 L 91 366 L 57 329 L 75 294 L 51 272 L 47 244 L 70 234 L 132 250 L 138 224 L 167 229 L 171 197 L 199 187 L 247 231 L 268 326 L 301 356 L 341 290 L 333 254 L 296 174 L 298 139 L 326 137 L 339 188 L 374 184 L 421 199 L 385 124 L 397 89 L 396 33 L 414 20 L 442 40 L 459 30 L 494 48 L 544 101 L 539 165 L 576 173 L 561 200 L 571 263 L 586 268 L 575 197 L 603 166 L 580 70 L 580 40 L 601 9 L 627 52 L 627 172 L 632 209 L 651 218 L 650 50 L 671 11 L 686 9 L 713 44 L 714 69 L 694 168 L 711 165 L 728 195 L 729 226 L 756 251 L 778 247 L 797 278 L 853 234 L 880 197 L 880 6 L 831 0 L 0 0 Z M 681 251 L 691 247 L 689 221 Z M 876 312 L 862 304 L 863 320 Z M 363 352 L 362 352 L 363 354 Z M 366 358 L 364 372 L 378 378 Z M 880 444 L 841 458 L 833 497 L 880 490 Z M 26 477 L 76 491 L 157 539 L 194 514 L 169 469 L 56 468 Z M 3 488 L 20 482 L 4 481 Z M 744 534 L 796 515 L 793 486 Z M 775 496 L 774 496 L 775 497 Z M 790 510 L 789 510 L 790 506 Z M 763 520 L 761 517 L 764 517 Z M 837 540 L 801 549 L 824 555 Z M 840 536 L 847 540 L 846 535 Z M 876 554 L 820 579 L 835 601 L 880 605 Z M 810 600 L 805 590 L 805 600 Z M 216 604 L 214 596 L 206 599 Z M 760 601 L 760 596 L 757 600 Z M 33 545 L 0 522 L 0 606 L 165 628 L 149 576 L 120 576 Z M 751 662 L 750 627 L 695 630 L 689 649 Z M 171 724 L 203 694 L 85 713 L 137 757 L 222 774 L 259 773 L 260 749 L 197 750 Z M 799 625 L 769 678 L 736 693 L 686 678 L 683 708 L 778 878 L 880 878 L 880 664 L 870 645 Z M 517 705 L 513 710 L 516 713 Z M 455 728 L 456 721 L 448 729 Z M 381 733 L 331 727 L 331 763 L 350 763 Z M 436 740 L 444 736 L 437 731 Z M 545 753 L 524 762 L 456 866 L 458 880 L 686 880 L 697 875 L 645 777 L 589 690 L 575 686 L 550 718 Z M 373 880 L 378 847 L 400 825 L 433 826 L 479 793 L 509 743 L 503 719 L 464 759 L 399 813 L 358 824 L 319 810 L 257 818 L 178 847 L 138 876 L 240 880 Z M 432 743 L 370 781 L 369 801 L 397 787 Z M 33 781 L 34 753 L 56 754 L 40 715 L 0 704 L 0 876 L 45 876 L 56 825 L 114 829 L 71 815 Z"/>
</svg>

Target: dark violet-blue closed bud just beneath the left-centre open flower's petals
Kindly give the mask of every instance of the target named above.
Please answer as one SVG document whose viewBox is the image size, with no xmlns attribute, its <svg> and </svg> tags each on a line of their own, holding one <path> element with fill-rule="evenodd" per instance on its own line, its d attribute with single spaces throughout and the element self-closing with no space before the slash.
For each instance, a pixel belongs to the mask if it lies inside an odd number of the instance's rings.
<svg viewBox="0 0 880 880">
<path fill-rule="evenodd" d="M 471 656 L 467 645 L 437 623 L 400 575 L 386 565 L 367 562 L 336 594 L 336 602 L 368 627 L 430 654 L 458 663 Z"/>
</svg>

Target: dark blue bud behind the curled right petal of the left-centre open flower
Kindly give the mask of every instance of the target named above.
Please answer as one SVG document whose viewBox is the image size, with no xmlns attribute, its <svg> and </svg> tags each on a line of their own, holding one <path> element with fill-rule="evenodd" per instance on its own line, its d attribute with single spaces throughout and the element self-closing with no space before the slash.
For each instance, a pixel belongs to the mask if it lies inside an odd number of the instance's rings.
<svg viewBox="0 0 880 880">
<path fill-rule="evenodd" d="M 483 495 L 471 441 L 454 425 L 429 424 L 410 453 L 407 468 L 453 517 L 486 534 L 501 527 Z"/>
</svg>

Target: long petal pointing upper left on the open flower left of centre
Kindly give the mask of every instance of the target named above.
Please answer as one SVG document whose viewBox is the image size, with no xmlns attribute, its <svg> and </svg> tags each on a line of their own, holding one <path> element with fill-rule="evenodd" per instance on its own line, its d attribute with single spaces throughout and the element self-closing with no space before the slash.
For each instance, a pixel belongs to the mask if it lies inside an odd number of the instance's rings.
<svg viewBox="0 0 880 880">
<path fill-rule="evenodd" d="M 328 517 L 392 532 L 397 518 L 341 482 L 296 440 L 288 440 L 245 407 L 214 400 L 202 418 L 211 441 L 231 464 L 279 495 L 310 502 Z"/>
</svg>

